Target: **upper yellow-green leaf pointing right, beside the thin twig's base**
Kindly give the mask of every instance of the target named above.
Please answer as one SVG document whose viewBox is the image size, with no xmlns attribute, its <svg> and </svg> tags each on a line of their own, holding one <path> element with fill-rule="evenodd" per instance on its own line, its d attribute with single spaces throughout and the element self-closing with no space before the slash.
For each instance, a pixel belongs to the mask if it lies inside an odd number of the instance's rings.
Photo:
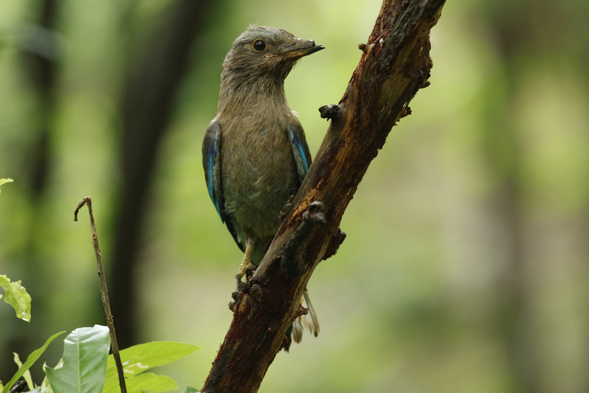
<svg viewBox="0 0 589 393">
<path fill-rule="evenodd" d="M 136 376 L 150 368 L 162 366 L 184 356 L 193 354 L 201 349 L 200 346 L 184 344 L 173 341 L 154 341 L 145 344 L 131 346 L 120 352 L 123 363 L 125 381 L 137 378 Z M 133 377 L 133 378 L 131 378 Z M 108 356 L 107 380 L 103 393 L 118 392 L 117 366 L 112 355 Z"/>
</svg>

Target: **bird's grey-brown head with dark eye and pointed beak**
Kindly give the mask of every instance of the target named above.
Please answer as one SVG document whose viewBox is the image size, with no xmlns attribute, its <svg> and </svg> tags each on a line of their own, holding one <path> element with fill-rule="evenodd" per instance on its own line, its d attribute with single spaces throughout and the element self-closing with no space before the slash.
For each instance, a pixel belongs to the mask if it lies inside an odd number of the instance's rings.
<svg viewBox="0 0 589 393">
<path fill-rule="evenodd" d="M 286 78 L 294 63 L 325 47 L 296 38 L 282 29 L 251 26 L 231 45 L 223 62 L 224 76 L 242 79 Z"/>
</svg>

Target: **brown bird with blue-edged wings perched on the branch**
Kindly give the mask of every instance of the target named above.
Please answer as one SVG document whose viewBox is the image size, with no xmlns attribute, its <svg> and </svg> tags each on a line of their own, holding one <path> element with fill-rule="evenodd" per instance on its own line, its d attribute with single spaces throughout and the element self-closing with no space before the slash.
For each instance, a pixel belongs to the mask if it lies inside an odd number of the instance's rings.
<svg viewBox="0 0 589 393">
<path fill-rule="evenodd" d="M 321 49 L 311 39 L 279 28 L 251 25 L 223 61 L 216 114 L 202 153 L 209 196 L 244 252 L 238 284 L 264 257 L 311 164 L 303 127 L 290 109 L 284 80 L 300 58 Z M 302 315 L 289 328 L 294 341 L 303 326 L 317 336 L 319 322 L 305 290 Z"/>
</svg>

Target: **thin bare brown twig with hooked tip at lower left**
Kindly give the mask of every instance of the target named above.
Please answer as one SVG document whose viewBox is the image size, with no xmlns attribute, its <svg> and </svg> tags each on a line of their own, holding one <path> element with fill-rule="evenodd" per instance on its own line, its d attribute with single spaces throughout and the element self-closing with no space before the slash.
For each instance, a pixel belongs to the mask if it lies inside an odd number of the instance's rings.
<svg viewBox="0 0 589 393">
<path fill-rule="evenodd" d="M 92 245 L 94 246 L 94 253 L 96 255 L 96 263 L 98 265 L 98 279 L 100 280 L 100 293 L 102 295 L 102 306 L 104 306 L 104 315 L 107 318 L 108 330 L 111 335 L 111 348 L 114 362 L 117 365 L 118 383 L 121 386 L 121 393 L 127 393 L 127 386 L 125 385 L 125 376 L 123 374 L 123 364 L 121 364 L 121 356 L 118 352 L 117 335 L 114 331 L 114 318 L 110 309 L 110 301 L 108 300 L 107 281 L 104 278 L 104 269 L 102 269 L 102 256 L 100 247 L 98 247 L 98 234 L 96 233 L 96 226 L 94 224 L 94 214 L 92 214 L 92 200 L 90 197 L 85 197 L 82 202 L 78 203 L 74 212 L 74 221 L 78 220 L 78 212 L 82 206 L 88 206 L 88 213 L 90 213 L 90 229 L 92 231 Z"/>
</svg>

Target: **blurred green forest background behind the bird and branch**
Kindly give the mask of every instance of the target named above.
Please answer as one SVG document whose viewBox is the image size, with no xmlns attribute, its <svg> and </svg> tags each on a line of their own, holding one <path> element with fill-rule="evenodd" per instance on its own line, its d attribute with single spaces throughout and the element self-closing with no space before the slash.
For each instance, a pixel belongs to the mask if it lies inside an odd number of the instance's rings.
<svg viewBox="0 0 589 393">
<path fill-rule="evenodd" d="M 378 0 L 0 2 L 0 379 L 51 333 L 104 324 L 92 196 L 123 346 L 202 351 L 160 369 L 202 386 L 241 253 L 204 184 L 221 62 L 252 23 L 315 39 L 286 81 L 313 154 Z M 449 1 L 411 102 L 309 291 L 320 318 L 260 392 L 589 391 L 589 2 Z M 43 360 L 62 351 L 52 344 Z M 40 382 L 41 364 L 33 368 Z"/>
</svg>

